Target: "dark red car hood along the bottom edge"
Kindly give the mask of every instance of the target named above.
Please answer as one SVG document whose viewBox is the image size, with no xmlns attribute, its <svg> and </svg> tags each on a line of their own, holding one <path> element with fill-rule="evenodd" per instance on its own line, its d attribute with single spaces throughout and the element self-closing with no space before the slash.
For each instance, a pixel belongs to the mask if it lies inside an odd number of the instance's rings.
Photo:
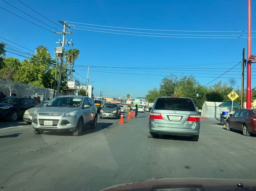
<svg viewBox="0 0 256 191">
<path fill-rule="evenodd" d="M 254 190 L 255 180 L 220 178 L 157 178 L 112 186 L 102 191 L 117 190 Z"/>
</svg>

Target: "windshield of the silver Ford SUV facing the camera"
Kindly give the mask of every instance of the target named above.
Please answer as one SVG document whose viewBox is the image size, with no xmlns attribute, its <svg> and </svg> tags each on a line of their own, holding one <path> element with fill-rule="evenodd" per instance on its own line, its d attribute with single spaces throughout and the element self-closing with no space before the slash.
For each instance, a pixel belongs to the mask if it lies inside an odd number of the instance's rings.
<svg viewBox="0 0 256 191">
<path fill-rule="evenodd" d="M 46 107 L 78 107 L 82 103 L 82 98 L 78 97 L 56 97 L 51 100 Z"/>
</svg>

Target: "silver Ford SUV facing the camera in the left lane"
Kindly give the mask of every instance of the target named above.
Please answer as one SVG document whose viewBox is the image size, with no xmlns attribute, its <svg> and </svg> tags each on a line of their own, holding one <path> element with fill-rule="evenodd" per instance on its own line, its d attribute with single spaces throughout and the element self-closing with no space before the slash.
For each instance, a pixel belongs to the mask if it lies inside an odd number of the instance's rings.
<svg viewBox="0 0 256 191">
<path fill-rule="evenodd" d="M 42 108 L 34 111 L 32 128 L 35 134 L 43 131 L 69 131 L 74 136 L 82 134 L 83 127 L 97 126 L 97 107 L 86 96 L 58 96 Z"/>
</svg>

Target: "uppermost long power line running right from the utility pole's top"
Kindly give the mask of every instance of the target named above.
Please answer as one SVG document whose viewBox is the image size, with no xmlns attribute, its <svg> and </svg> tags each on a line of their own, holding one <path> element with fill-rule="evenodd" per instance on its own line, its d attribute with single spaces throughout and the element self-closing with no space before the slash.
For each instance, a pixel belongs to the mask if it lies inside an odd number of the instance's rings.
<svg viewBox="0 0 256 191">
<path fill-rule="evenodd" d="M 175 31 L 175 32 L 247 32 L 247 31 L 198 31 L 198 30 L 163 30 L 163 29 L 142 29 L 142 28 L 128 28 L 128 27 L 113 27 L 113 26 L 106 26 L 106 25 L 97 25 L 97 24 L 88 24 L 88 23 L 78 23 L 78 22 L 72 22 L 67 21 L 69 23 L 75 23 L 75 24 L 84 24 L 84 25 L 92 25 L 92 26 L 98 26 L 98 27 L 109 27 L 109 28 L 119 28 L 119 29 L 134 29 L 134 30 L 154 30 L 154 31 Z M 256 32 L 256 31 L 252 31 Z"/>
</svg>

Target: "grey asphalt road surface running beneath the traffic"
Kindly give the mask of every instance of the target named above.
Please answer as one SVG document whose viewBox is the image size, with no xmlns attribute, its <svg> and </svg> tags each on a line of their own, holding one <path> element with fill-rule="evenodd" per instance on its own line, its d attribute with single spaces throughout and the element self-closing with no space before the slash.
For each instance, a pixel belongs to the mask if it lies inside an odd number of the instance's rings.
<svg viewBox="0 0 256 191">
<path fill-rule="evenodd" d="M 256 179 L 256 136 L 226 131 L 201 119 L 198 142 L 147 137 L 149 112 L 138 118 L 99 119 L 83 135 L 44 132 L 29 125 L 2 128 L 0 190 L 100 190 L 149 178 Z"/>
</svg>

